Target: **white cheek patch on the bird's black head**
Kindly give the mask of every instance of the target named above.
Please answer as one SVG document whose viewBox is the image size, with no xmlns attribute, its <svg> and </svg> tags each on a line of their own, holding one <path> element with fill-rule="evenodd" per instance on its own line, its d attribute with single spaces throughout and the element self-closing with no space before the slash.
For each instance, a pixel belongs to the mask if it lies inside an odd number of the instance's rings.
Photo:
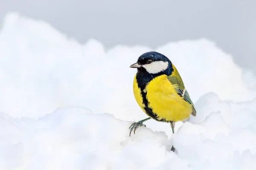
<svg viewBox="0 0 256 170">
<path fill-rule="evenodd" d="M 146 71 L 148 71 L 148 73 L 157 74 L 161 71 L 166 70 L 166 68 L 168 67 L 168 62 L 154 61 L 154 62 L 151 62 L 150 64 L 145 64 L 142 66 L 146 69 Z"/>
</svg>

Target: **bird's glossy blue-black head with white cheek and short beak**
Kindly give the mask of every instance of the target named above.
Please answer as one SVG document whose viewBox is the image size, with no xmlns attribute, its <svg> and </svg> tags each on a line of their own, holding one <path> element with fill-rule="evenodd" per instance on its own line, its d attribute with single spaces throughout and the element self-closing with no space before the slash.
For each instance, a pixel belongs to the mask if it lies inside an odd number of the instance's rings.
<svg viewBox="0 0 256 170">
<path fill-rule="evenodd" d="M 136 63 L 130 66 L 137 68 L 138 72 L 147 72 L 148 74 L 167 74 L 172 73 L 172 62 L 163 54 L 150 51 L 142 54 Z"/>
</svg>

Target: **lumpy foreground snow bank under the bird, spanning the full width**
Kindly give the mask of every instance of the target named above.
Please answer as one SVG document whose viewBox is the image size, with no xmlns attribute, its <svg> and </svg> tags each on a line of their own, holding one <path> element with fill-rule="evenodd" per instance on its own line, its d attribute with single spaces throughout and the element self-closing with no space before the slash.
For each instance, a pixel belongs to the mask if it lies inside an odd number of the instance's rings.
<svg viewBox="0 0 256 170">
<path fill-rule="evenodd" d="M 202 102 L 212 100 L 214 102 Z M 62 108 L 38 120 L 0 115 L 1 169 L 20 170 L 253 170 L 256 167 L 256 100 L 199 99 L 202 108 L 171 138 L 110 114 Z M 146 123 L 145 123 L 146 124 Z M 164 124 L 164 123 L 163 123 Z M 6 131 L 7 130 L 7 131 Z M 171 128 L 169 127 L 169 130 Z M 170 151 L 174 144 L 176 153 Z"/>
</svg>

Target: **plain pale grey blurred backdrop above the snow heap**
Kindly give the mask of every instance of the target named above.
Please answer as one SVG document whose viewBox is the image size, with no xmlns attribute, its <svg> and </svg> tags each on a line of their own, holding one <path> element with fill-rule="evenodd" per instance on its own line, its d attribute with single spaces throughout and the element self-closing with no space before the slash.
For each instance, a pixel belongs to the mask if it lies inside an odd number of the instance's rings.
<svg viewBox="0 0 256 170">
<path fill-rule="evenodd" d="M 84 43 L 107 48 L 208 38 L 256 73 L 255 0 L 0 0 L 0 26 L 8 11 L 44 20 Z"/>
</svg>

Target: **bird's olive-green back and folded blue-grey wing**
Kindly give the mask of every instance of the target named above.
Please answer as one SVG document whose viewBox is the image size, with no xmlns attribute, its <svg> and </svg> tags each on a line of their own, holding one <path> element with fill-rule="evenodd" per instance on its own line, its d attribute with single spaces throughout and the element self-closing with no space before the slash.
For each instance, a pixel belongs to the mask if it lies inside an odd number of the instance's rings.
<svg viewBox="0 0 256 170">
<path fill-rule="evenodd" d="M 194 106 L 194 103 L 192 102 L 192 100 L 190 99 L 190 96 L 189 96 L 189 92 L 186 90 L 184 84 L 183 84 L 183 81 L 180 77 L 180 74 L 178 73 L 177 69 L 175 68 L 174 65 L 173 66 L 173 69 L 174 71 L 172 72 L 172 75 L 168 76 L 168 80 L 173 84 L 173 85 L 176 85 L 177 86 L 177 93 L 183 97 L 183 99 L 188 102 L 190 105 L 192 105 L 192 115 L 195 116 L 196 115 L 196 111 L 195 111 L 195 106 Z"/>
</svg>

